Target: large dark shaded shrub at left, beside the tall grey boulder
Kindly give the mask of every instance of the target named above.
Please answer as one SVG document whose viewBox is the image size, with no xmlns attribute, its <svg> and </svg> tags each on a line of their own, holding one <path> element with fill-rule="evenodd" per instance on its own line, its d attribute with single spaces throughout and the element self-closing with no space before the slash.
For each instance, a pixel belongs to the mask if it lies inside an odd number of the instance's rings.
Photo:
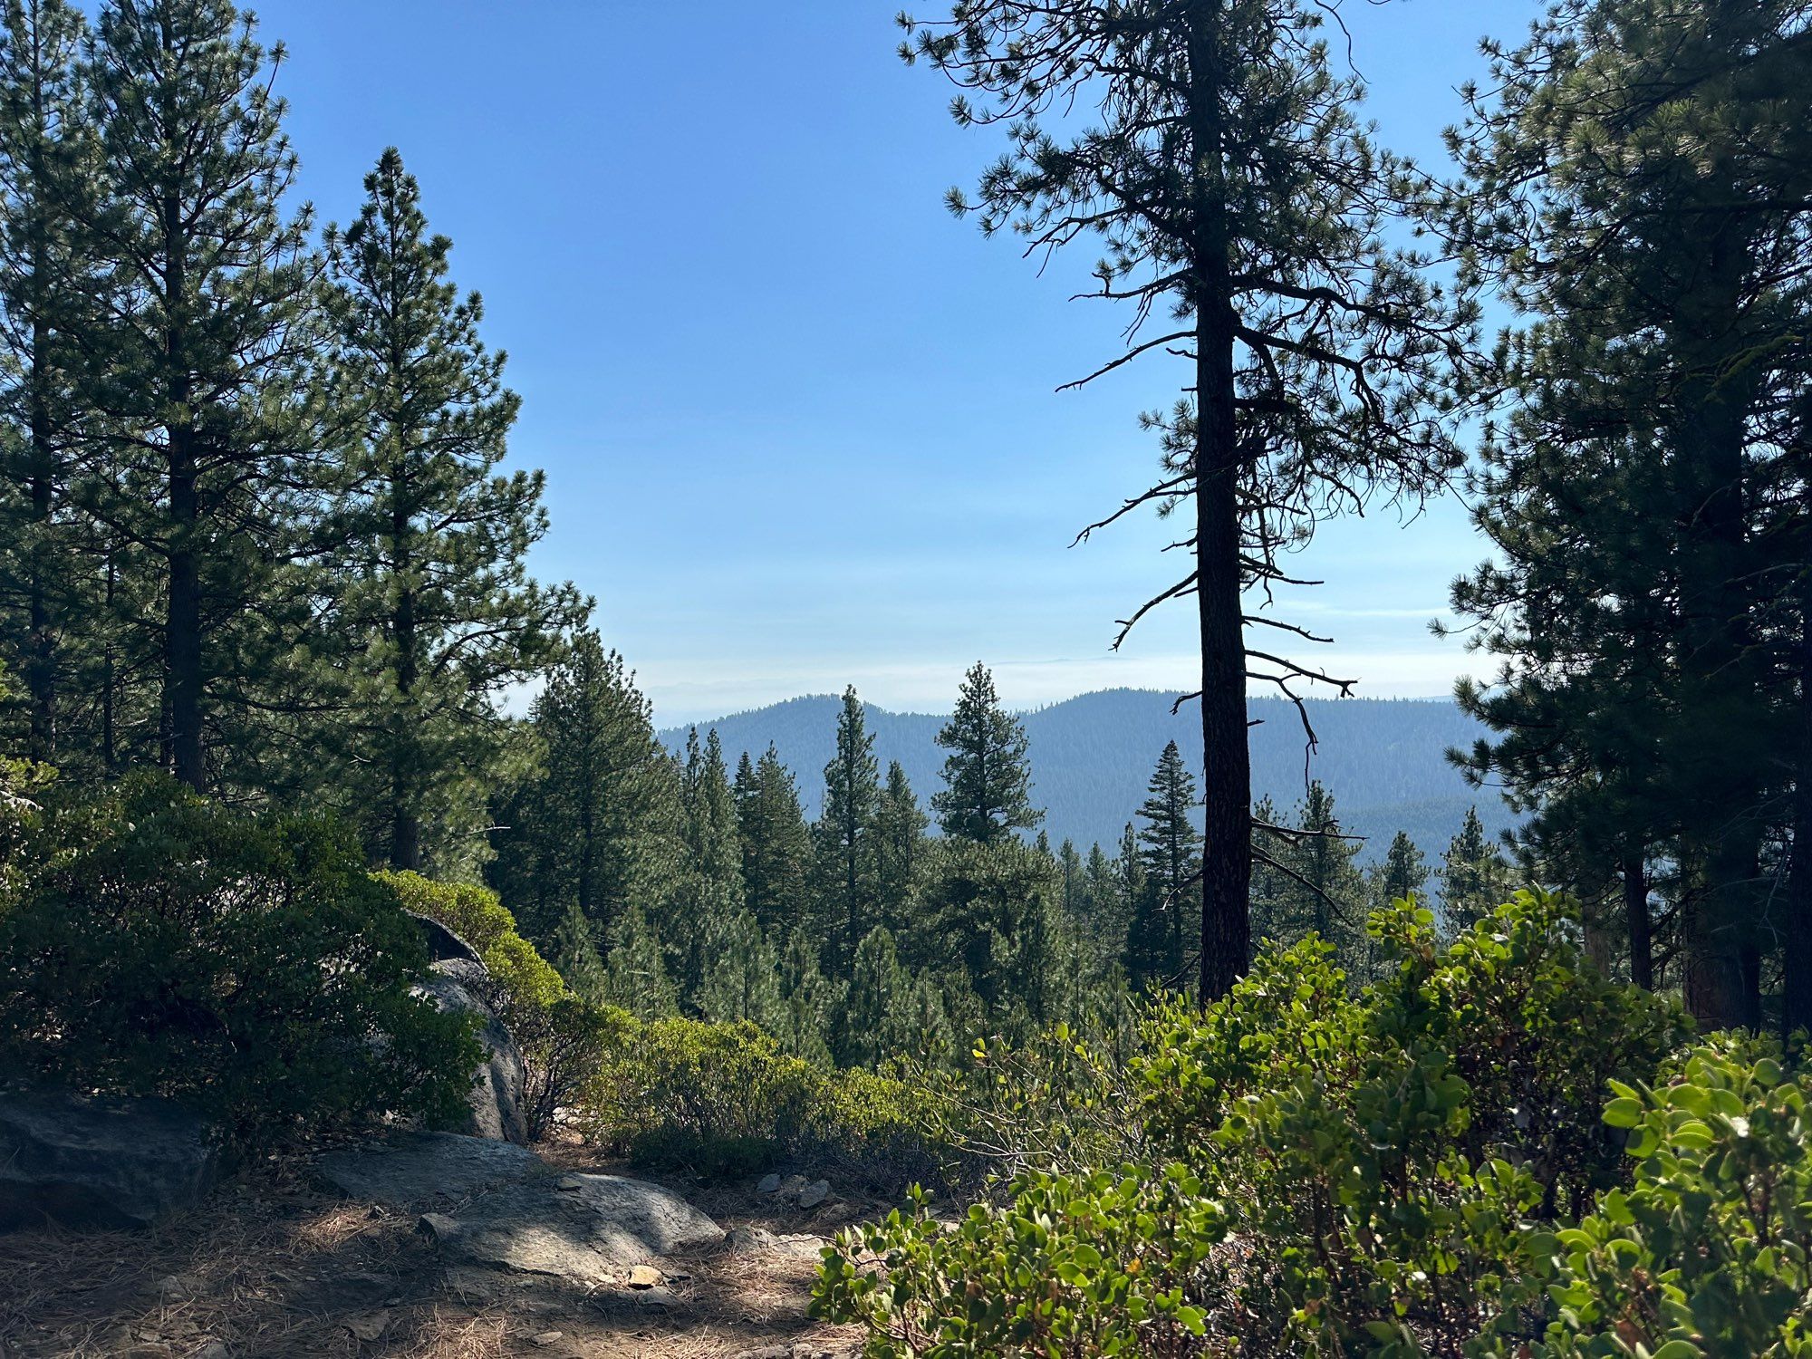
<svg viewBox="0 0 1812 1359">
<path fill-rule="evenodd" d="M 62 803 L 0 913 L 0 1065 L 161 1094 L 239 1143 L 379 1114 L 457 1118 L 469 1022 L 410 993 L 419 928 L 324 821 L 167 779 Z"/>
</svg>

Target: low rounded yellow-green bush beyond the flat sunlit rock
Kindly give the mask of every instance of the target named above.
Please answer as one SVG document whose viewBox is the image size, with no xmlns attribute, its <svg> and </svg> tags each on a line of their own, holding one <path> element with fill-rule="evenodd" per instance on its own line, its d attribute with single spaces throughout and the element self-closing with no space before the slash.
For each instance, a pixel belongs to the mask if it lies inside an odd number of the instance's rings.
<svg viewBox="0 0 1812 1359">
<path fill-rule="evenodd" d="M 788 1158 L 837 1163 L 895 1187 L 937 1172 L 913 1093 L 897 1080 L 828 1073 L 788 1056 L 747 1020 L 622 1022 L 622 1042 L 582 1105 L 583 1131 L 605 1147 L 705 1174 L 745 1174 Z"/>
</svg>

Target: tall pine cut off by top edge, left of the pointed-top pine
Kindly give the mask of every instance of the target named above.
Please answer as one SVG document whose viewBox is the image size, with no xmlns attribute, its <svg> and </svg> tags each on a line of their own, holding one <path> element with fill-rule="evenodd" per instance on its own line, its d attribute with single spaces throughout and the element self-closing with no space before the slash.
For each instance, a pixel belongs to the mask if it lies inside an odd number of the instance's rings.
<svg viewBox="0 0 1812 1359">
<path fill-rule="evenodd" d="M 308 212 L 284 216 L 283 51 L 228 0 L 109 0 L 87 51 L 100 203 L 83 243 L 120 290 L 83 391 L 112 464 L 91 504 L 161 571 L 163 620 L 140 636 L 167 768 L 245 785 L 266 727 L 252 714 L 272 707 L 257 690 L 281 685 L 303 631 L 286 567 L 319 473 L 299 453 L 319 265 Z"/>
</svg>

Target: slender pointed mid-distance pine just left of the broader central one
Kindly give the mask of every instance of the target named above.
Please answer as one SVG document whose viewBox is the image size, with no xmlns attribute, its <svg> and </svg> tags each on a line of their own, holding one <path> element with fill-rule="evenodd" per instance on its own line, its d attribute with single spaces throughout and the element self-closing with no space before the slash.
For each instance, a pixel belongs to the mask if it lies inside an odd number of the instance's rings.
<svg viewBox="0 0 1812 1359">
<path fill-rule="evenodd" d="M 875 819 L 881 810 L 875 737 L 863 719 L 855 689 L 843 692 L 837 754 L 824 766 L 824 805 L 814 830 L 817 892 L 826 933 L 835 940 L 835 975 L 848 978 L 855 948 L 873 928 Z"/>
</svg>

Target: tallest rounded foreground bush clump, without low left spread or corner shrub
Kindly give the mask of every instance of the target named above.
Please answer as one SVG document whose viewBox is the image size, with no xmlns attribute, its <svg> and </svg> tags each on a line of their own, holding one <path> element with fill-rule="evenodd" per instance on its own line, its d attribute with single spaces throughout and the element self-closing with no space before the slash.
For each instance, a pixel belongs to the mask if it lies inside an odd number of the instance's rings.
<svg viewBox="0 0 1812 1359">
<path fill-rule="evenodd" d="M 1370 931 L 1386 968 L 1357 997 L 1310 939 L 1205 1015 L 1156 1017 L 1147 1136 L 1263 1243 L 1229 1299 L 1248 1343 L 1459 1354 L 1518 1317 L 1524 1218 L 1616 1181 L 1605 1082 L 1653 1076 L 1685 1020 L 1598 977 L 1542 893 L 1444 948 L 1413 902 Z"/>
</svg>

